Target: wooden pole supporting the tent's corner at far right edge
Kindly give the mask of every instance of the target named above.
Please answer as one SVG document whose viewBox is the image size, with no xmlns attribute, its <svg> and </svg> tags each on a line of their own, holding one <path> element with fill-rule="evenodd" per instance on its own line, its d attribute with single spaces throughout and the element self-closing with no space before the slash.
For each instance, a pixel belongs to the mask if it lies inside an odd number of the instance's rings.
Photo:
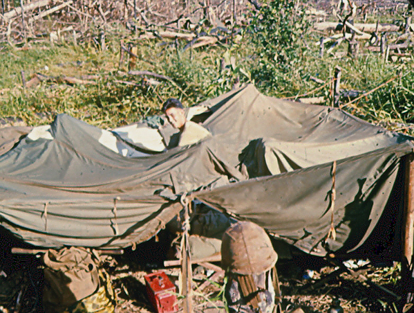
<svg viewBox="0 0 414 313">
<path fill-rule="evenodd" d="M 414 244 L 414 153 L 404 156 L 405 190 L 404 190 L 404 215 L 402 226 L 402 280 L 408 282 L 411 279 Z M 411 293 L 408 290 L 408 293 Z"/>
</svg>

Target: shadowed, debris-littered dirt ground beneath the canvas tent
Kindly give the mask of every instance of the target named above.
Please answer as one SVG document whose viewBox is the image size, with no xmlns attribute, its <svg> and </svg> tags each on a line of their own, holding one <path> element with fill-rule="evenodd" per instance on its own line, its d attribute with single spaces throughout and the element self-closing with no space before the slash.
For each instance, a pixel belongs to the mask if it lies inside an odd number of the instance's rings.
<svg viewBox="0 0 414 313">
<path fill-rule="evenodd" d="M 40 258 L 12 254 L 10 248 L 15 243 L 4 237 L 0 240 L 0 312 L 44 312 Z M 165 244 L 150 240 L 138 245 L 135 251 L 125 249 L 123 255 L 110 256 L 102 262 L 116 294 L 115 312 L 156 312 L 148 300 L 144 275 L 165 271 L 177 284 L 180 270 L 162 266 L 167 249 Z M 339 271 L 339 267 L 322 258 L 296 256 L 293 260 L 278 260 L 276 267 L 283 294 L 283 312 L 297 307 L 306 313 L 328 312 L 333 298 L 339 299 L 344 312 L 401 312 L 401 301 L 396 298 L 401 293 L 399 264 L 372 265 L 366 264 L 365 260 L 348 261 L 351 269 L 357 266 L 363 266 L 362 270 L 353 276 L 347 272 L 332 275 L 332 272 Z M 220 294 L 223 278 L 205 283 L 205 287 L 199 289 L 214 271 L 197 265 L 193 269 L 194 312 L 225 312 Z M 332 277 L 326 279 L 329 274 Z"/>
</svg>

